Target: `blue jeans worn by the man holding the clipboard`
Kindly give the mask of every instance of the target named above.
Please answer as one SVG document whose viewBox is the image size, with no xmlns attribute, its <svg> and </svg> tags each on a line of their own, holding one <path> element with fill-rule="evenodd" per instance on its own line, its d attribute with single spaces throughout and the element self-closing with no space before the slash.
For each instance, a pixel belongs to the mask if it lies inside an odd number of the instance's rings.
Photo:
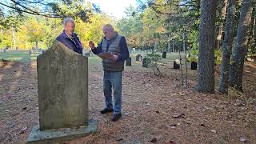
<svg viewBox="0 0 256 144">
<path fill-rule="evenodd" d="M 106 109 L 113 109 L 112 90 L 114 95 L 114 114 L 121 114 L 122 109 L 122 72 L 104 71 L 103 92 Z"/>
</svg>

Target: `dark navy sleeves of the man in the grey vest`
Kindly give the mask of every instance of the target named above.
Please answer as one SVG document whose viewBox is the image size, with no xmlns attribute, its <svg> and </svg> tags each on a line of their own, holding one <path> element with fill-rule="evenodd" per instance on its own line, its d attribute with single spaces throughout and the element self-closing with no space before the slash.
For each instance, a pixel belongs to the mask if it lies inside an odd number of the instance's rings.
<svg viewBox="0 0 256 144">
<path fill-rule="evenodd" d="M 105 38 L 105 37 L 104 37 Z M 105 38 L 106 39 L 106 38 Z M 109 46 L 109 45 L 108 45 Z M 125 61 L 129 57 L 129 51 L 126 44 L 126 38 L 122 37 L 119 43 L 119 46 L 121 48 L 121 55 L 118 55 L 118 61 Z M 94 50 L 92 50 L 94 54 L 103 53 L 102 51 L 102 42 L 98 44 L 98 47 L 96 47 Z M 107 52 L 107 51 L 106 51 Z"/>
</svg>

